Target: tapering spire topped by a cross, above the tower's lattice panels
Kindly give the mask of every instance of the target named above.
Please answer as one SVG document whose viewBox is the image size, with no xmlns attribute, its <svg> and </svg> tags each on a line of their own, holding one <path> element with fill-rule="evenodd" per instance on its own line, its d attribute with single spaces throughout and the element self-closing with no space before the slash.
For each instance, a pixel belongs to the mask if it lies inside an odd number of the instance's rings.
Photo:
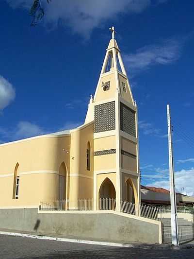
<svg viewBox="0 0 194 259">
<path fill-rule="evenodd" d="M 96 105 L 97 102 L 108 102 L 108 100 L 113 100 L 116 95 L 119 96 L 121 100 L 123 99 L 135 106 L 120 49 L 115 39 L 116 32 L 114 26 L 109 28 L 109 30 L 112 32 L 112 38 L 106 49 L 94 100 L 92 99 L 90 101 L 88 107 L 86 116 L 87 122 L 91 121 L 94 117 L 94 105 Z"/>
</svg>

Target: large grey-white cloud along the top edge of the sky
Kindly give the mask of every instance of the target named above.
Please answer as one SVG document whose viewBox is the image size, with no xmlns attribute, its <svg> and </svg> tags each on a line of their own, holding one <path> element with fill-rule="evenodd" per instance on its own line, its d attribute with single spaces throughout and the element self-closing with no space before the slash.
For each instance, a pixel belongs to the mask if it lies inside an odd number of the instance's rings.
<svg viewBox="0 0 194 259">
<path fill-rule="evenodd" d="M 32 0 L 7 0 L 11 7 L 30 8 Z M 106 20 L 115 20 L 120 13 L 141 13 L 152 4 L 152 0 L 53 0 L 46 4 L 44 21 L 56 28 L 59 24 L 68 26 L 74 33 L 86 38 L 94 28 Z M 164 0 L 155 0 L 160 4 Z M 111 24 L 110 24 L 111 25 Z"/>
</svg>

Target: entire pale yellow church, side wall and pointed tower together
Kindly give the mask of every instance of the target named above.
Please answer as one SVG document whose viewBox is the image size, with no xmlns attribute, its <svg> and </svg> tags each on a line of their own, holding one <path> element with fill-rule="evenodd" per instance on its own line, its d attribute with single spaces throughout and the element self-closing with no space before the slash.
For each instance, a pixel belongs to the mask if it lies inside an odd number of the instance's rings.
<svg viewBox="0 0 194 259">
<path fill-rule="evenodd" d="M 0 208 L 38 207 L 65 200 L 65 209 L 90 199 L 140 206 L 138 111 L 114 38 L 85 122 L 80 127 L 0 145 Z"/>
</svg>

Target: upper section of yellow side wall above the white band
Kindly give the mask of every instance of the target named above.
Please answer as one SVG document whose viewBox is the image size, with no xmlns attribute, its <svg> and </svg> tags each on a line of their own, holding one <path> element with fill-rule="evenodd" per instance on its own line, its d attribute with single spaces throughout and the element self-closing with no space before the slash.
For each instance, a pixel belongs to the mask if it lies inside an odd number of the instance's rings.
<svg viewBox="0 0 194 259">
<path fill-rule="evenodd" d="M 21 142 L 0 145 L 0 174 L 14 173 L 16 163 L 19 172 L 58 171 L 65 161 L 69 169 L 70 136 L 32 138 Z"/>
</svg>

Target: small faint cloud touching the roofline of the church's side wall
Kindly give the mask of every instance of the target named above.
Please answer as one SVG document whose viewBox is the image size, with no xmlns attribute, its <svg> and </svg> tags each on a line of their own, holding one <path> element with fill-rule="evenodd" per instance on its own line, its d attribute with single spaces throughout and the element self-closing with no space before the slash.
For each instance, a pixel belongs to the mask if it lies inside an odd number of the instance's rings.
<svg viewBox="0 0 194 259">
<path fill-rule="evenodd" d="M 37 124 L 33 124 L 29 121 L 20 121 L 16 126 L 16 131 L 13 134 L 13 138 L 21 139 L 21 138 L 30 138 L 33 136 L 46 134 L 46 131 L 38 126 Z"/>
</svg>

